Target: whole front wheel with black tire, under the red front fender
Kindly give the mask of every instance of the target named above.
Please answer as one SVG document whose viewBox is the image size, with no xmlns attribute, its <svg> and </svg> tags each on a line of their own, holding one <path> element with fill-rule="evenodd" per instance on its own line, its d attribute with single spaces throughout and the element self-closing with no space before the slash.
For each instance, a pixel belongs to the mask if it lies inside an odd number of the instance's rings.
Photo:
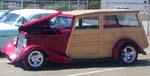
<svg viewBox="0 0 150 76">
<path fill-rule="evenodd" d="M 33 50 L 23 59 L 23 64 L 27 69 L 41 69 L 45 64 L 45 56 L 41 51 Z"/>
</svg>

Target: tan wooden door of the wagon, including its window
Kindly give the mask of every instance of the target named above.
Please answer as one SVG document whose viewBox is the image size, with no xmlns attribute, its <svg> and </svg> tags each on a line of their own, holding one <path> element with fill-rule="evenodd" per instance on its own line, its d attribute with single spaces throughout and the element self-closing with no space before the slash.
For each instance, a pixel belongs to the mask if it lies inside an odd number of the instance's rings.
<svg viewBox="0 0 150 76">
<path fill-rule="evenodd" d="M 100 56 L 99 21 L 97 15 L 77 18 L 67 49 L 69 57 L 89 59 Z"/>
</svg>

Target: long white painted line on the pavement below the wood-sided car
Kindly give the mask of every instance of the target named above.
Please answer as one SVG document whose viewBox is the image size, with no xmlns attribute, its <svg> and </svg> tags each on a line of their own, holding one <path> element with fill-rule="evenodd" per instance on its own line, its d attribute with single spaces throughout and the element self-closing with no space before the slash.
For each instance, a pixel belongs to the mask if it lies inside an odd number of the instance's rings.
<svg viewBox="0 0 150 76">
<path fill-rule="evenodd" d="M 104 70 L 96 70 L 91 72 L 84 72 L 84 73 L 78 73 L 78 74 L 71 74 L 67 76 L 81 76 L 81 75 L 87 75 L 87 74 L 93 74 L 93 73 L 101 73 L 101 72 L 108 72 L 108 71 L 114 71 L 114 70 L 120 70 L 124 68 L 110 68 L 110 69 L 104 69 Z"/>
</svg>

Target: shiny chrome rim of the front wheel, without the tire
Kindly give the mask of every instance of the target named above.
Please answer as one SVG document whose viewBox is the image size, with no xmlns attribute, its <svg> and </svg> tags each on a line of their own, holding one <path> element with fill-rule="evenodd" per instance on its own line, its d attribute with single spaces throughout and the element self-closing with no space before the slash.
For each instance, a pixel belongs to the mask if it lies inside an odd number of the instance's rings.
<svg viewBox="0 0 150 76">
<path fill-rule="evenodd" d="M 28 63 L 32 67 L 40 67 L 44 61 L 43 54 L 39 51 L 33 51 L 28 56 Z"/>
</svg>

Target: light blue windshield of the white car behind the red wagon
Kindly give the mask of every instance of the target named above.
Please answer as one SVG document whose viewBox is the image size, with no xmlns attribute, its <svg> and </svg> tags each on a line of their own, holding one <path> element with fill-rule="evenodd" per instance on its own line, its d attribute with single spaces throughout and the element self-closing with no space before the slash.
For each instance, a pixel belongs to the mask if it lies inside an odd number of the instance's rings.
<svg viewBox="0 0 150 76">
<path fill-rule="evenodd" d="M 19 15 L 15 13 L 8 13 L 6 16 L 4 16 L 0 22 L 1 23 L 7 23 L 7 24 L 13 24 L 18 19 Z"/>
</svg>

